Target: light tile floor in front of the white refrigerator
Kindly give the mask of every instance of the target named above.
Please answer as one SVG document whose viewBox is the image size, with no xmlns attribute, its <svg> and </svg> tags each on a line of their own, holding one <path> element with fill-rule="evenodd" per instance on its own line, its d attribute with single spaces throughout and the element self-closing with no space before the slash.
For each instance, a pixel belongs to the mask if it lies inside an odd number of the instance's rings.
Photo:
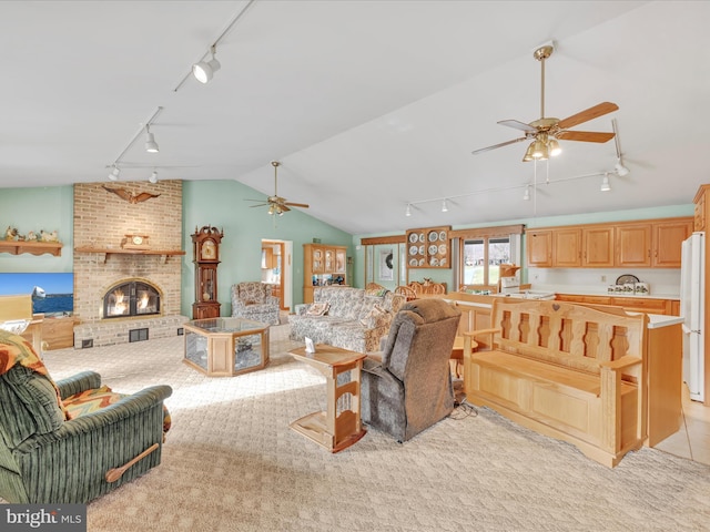
<svg viewBox="0 0 710 532">
<path fill-rule="evenodd" d="M 680 430 L 656 446 L 656 449 L 677 457 L 710 466 L 710 407 L 690 400 L 683 385 L 683 419 Z"/>
</svg>

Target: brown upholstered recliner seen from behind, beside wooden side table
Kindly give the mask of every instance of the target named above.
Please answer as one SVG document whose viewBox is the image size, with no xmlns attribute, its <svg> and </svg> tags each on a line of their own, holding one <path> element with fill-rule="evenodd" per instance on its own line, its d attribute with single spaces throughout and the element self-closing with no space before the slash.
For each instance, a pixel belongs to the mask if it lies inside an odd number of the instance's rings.
<svg viewBox="0 0 710 532">
<path fill-rule="evenodd" d="M 454 409 L 449 357 L 460 310 L 443 299 L 405 303 L 382 359 L 368 355 L 362 372 L 362 419 L 404 442 Z"/>
</svg>

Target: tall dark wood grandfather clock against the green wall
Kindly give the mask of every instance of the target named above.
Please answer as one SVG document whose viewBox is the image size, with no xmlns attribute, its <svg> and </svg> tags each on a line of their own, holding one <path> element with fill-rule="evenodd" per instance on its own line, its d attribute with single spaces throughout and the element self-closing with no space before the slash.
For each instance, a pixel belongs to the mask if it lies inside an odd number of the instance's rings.
<svg viewBox="0 0 710 532">
<path fill-rule="evenodd" d="M 217 266 L 220 265 L 220 243 L 224 231 L 205 225 L 192 236 L 192 262 L 195 265 L 195 303 L 192 319 L 219 318 Z"/>
</svg>

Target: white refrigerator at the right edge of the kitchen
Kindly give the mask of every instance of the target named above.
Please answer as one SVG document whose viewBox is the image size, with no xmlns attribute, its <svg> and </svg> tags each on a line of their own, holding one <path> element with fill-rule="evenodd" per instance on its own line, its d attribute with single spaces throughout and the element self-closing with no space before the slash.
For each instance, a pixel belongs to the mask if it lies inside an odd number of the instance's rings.
<svg viewBox="0 0 710 532">
<path fill-rule="evenodd" d="M 683 329 L 683 380 L 690 399 L 704 401 L 706 234 L 683 242 L 680 269 L 680 315 Z"/>
</svg>

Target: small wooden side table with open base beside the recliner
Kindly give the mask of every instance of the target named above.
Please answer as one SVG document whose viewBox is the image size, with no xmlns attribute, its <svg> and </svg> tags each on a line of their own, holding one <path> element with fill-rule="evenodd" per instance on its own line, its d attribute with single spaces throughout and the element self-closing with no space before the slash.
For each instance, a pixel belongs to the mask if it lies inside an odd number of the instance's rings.
<svg viewBox="0 0 710 532">
<path fill-rule="evenodd" d="M 325 344 L 317 344 L 315 352 L 306 352 L 305 347 L 288 352 L 323 374 L 327 388 L 326 411 L 310 413 L 290 427 L 331 452 L 342 451 L 357 442 L 367 432 L 359 417 L 359 379 L 365 355 Z M 338 376 L 347 371 L 351 372 L 349 382 L 338 385 Z M 349 409 L 338 415 L 338 400 L 346 393 L 351 396 Z"/>
</svg>

